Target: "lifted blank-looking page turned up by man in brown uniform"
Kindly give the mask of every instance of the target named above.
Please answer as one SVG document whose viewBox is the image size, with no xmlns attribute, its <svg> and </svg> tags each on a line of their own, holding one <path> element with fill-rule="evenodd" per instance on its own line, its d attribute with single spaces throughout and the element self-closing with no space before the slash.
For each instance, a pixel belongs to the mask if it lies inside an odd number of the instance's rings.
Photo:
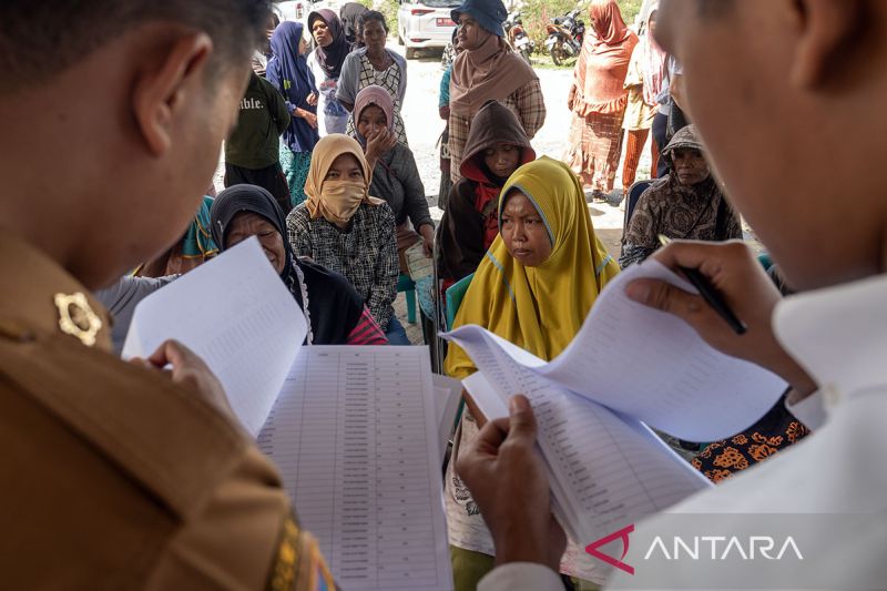
<svg viewBox="0 0 887 591">
<path fill-rule="evenodd" d="M 307 332 L 293 294 L 251 237 L 140 302 L 123 358 L 180 340 L 210 366 L 255 436 Z"/>
</svg>

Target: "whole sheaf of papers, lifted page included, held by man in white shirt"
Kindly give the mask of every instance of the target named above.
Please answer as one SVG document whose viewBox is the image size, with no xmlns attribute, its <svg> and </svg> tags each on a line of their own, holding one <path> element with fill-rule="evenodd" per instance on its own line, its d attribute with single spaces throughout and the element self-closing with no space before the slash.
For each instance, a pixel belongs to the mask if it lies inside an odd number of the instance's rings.
<svg viewBox="0 0 887 591">
<path fill-rule="evenodd" d="M 773 374 L 714 350 L 679 318 L 630 300 L 626 283 L 642 277 L 692 291 L 659 263 L 630 268 L 551 363 L 477 326 L 448 336 L 479 369 L 463 384 L 488 419 L 508 416 L 510 396 L 530 400 L 553 509 L 580 544 L 711 486 L 645 424 L 712 441 L 755 422 L 785 389 Z"/>
</svg>

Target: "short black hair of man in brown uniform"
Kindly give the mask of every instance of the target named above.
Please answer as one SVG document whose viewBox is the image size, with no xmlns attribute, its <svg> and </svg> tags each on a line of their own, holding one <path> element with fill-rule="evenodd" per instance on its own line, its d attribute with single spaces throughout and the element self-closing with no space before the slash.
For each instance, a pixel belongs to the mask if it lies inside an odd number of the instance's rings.
<svg viewBox="0 0 887 591">
<path fill-rule="evenodd" d="M 2 0 L 0 94 L 51 79 L 150 21 L 208 34 L 211 72 L 245 64 L 269 13 L 271 0 Z"/>
</svg>

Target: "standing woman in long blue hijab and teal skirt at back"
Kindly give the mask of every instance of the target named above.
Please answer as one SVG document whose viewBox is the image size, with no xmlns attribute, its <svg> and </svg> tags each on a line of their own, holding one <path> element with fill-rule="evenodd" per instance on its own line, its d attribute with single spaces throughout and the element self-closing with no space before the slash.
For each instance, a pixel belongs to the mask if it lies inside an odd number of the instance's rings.
<svg viewBox="0 0 887 591">
<path fill-rule="evenodd" d="M 317 134 L 317 86 L 303 55 L 303 24 L 285 21 L 271 38 L 268 82 L 283 94 L 292 121 L 281 141 L 281 166 L 289 185 L 292 206 L 305 201 L 305 179 Z"/>
</svg>

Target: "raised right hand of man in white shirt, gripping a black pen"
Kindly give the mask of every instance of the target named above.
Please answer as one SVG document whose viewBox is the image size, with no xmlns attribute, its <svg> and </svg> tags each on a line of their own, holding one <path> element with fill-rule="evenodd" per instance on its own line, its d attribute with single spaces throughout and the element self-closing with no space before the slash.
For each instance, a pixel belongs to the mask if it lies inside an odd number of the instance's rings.
<svg viewBox="0 0 887 591">
<path fill-rule="evenodd" d="M 807 374 L 776 340 L 771 318 L 782 296 L 745 244 L 738 241 L 673 242 L 657 251 L 653 258 L 683 274 L 691 283 L 684 269 L 697 274 L 697 278 L 705 282 L 705 288 L 716 294 L 745 330 L 738 333 L 736 325 L 725 322 L 722 313 L 702 295 L 703 289 L 691 294 L 664 282 L 638 279 L 625 288 L 630 298 L 674 314 L 714 348 L 769 369 L 795 389 L 815 389 Z"/>
</svg>

